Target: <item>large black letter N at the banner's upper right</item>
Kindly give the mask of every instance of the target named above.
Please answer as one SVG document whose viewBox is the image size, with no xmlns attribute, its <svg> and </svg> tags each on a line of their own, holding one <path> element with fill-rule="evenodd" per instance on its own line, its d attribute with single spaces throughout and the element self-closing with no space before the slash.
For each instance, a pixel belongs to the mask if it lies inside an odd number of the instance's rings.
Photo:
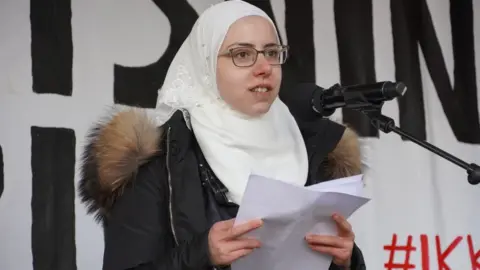
<svg viewBox="0 0 480 270">
<path fill-rule="evenodd" d="M 391 1 L 390 4 L 396 79 L 405 82 L 409 88 L 400 99 L 400 126 L 414 136 L 426 139 L 420 45 L 455 137 L 464 143 L 480 143 L 472 1 L 450 1 L 453 88 L 426 1 Z"/>
</svg>

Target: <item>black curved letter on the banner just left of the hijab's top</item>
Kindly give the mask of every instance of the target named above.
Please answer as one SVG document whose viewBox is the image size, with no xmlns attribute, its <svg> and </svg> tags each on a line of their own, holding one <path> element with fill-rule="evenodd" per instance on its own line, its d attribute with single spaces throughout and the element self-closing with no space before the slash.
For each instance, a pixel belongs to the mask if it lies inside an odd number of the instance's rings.
<svg viewBox="0 0 480 270">
<path fill-rule="evenodd" d="M 144 67 L 114 67 L 114 102 L 129 106 L 154 108 L 157 91 L 163 85 L 170 63 L 190 33 L 198 14 L 185 0 L 154 0 L 167 16 L 170 26 L 168 47 L 155 62 Z M 125 36 L 125 38 L 128 38 Z"/>
</svg>

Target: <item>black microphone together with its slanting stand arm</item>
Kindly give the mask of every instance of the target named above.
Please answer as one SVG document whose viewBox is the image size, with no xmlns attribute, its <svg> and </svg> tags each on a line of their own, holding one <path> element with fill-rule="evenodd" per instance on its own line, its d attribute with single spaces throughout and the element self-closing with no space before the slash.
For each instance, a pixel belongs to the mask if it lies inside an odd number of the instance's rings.
<svg viewBox="0 0 480 270">
<path fill-rule="evenodd" d="M 407 91 L 405 84 L 398 82 L 377 82 L 365 85 L 340 86 L 335 84 L 323 89 L 313 83 L 301 83 L 295 91 L 282 94 L 282 100 L 290 112 L 303 121 L 315 121 L 320 116 L 330 116 L 335 109 L 345 107 L 358 110 L 370 118 L 371 124 L 385 133 L 395 132 L 432 153 L 462 167 L 468 174 L 471 185 L 480 184 L 480 166 L 467 163 L 450 153 L 403 131 L 395 126 L 395 121 L 382 114 L 385 101 L 403 96 Z"/>
</svg>

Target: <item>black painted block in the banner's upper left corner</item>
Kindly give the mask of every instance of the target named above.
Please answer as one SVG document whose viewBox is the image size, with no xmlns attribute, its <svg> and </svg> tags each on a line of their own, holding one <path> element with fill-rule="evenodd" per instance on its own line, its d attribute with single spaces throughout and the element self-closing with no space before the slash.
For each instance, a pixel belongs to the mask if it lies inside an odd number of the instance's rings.
<svg viewBox="0 0 480 270">
<path fill-rule="evenodd" d="M 30 0 L 33 91 L 72 95 L 71 0 Z"/>
</svg>

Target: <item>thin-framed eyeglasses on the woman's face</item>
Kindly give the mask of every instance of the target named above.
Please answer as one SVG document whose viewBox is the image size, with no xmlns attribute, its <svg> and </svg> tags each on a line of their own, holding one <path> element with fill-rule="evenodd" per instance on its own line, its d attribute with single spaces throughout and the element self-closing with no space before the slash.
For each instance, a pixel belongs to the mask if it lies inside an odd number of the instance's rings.
<svg viewBox="0 0 480 270">
<path fill-rule="evenodd" d="M 251 67 L 257 62 L 258 54 L 261 53 L 270 65 L 282 65 L 287 60 L 288 49 L 287 45 L 269 46 L 262 51 L 252 47 L 237 47 L 229 49 L 220 56 L 230 56 L 237 67 Z"/>
</svg>

